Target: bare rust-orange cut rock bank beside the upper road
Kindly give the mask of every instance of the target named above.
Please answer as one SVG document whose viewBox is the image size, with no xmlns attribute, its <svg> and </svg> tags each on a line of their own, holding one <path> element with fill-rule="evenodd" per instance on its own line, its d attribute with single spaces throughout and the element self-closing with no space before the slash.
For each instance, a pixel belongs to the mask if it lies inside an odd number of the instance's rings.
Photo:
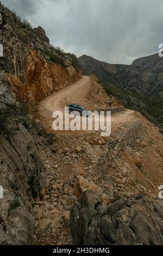
<svg viewBox="0 0 163 256">
<path fill-rule="evenodd" d="M 16 76 L 10 75 L 9 83 L 19 99 L 39 102 L 80 78 L 80 73 L 73 66 L 71 68 L 73 73 L 61 65 L 47 63 L 39 52 L 30 48 L 27 56 L 26 82 L 21 83 Z"/>
</svg>

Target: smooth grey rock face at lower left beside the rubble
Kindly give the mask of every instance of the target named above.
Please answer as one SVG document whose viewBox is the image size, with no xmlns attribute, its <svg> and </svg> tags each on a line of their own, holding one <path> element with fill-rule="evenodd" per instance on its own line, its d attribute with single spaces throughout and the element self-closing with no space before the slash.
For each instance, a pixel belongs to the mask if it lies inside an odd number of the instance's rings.
<svg viewBox="0 0 163 256">
<path fill-rule="evenodd" d="M 15 102 L 10 88 L 1 82 L 0 101 L 4 98 L 5 102 Z M 31 202 L 46 192 L 47 176 L 33 129 L 23 122 L 17 124 L 13 135 L 0 134 L 0 175 L 0 185 L 3 186 L 0 244 L 31 245 L 34 226 Z"/>
</svg>

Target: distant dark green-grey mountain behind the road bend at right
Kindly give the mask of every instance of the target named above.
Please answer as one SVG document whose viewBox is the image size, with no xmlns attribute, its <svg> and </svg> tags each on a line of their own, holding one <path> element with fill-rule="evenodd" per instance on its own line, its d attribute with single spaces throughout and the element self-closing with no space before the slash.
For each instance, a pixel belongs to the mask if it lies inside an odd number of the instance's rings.
<svg viewBox="0 0 163 256">
<path fill-rule="evenodd" d="M 96 75 L 108 93 L 163 126 L 163 58 L 158 54 L 131 65 L 109 64 L 83 55 L 78 58 L 84 75 Z"/>
</svg>

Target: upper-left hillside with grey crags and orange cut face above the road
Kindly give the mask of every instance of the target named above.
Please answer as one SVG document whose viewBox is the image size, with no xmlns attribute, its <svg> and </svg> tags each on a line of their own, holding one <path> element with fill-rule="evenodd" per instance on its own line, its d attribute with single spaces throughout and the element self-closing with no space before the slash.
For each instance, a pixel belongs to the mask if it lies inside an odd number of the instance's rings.
<svg viewBox="0 0 163 256">
<path fill-rule="evenodd" d="M 81 74 L 73 54 L 49 45 L 43 28 L 32 29 L 0 3 L 0 66 L 10 74 L 10 84 L 24 101 L 43 97 L 76 82 Z"/>
</svg>

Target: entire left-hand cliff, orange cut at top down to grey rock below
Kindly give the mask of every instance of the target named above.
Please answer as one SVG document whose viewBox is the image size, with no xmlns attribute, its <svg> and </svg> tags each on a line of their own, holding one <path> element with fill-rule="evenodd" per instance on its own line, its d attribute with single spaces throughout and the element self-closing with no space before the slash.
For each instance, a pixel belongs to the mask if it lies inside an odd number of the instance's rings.
<svg viewBox="0 0 163 256">
<path fill-rule="evenodd" d="M 33 119 L 20 101 L 39 102 L 81 74 L 76 56 L 50 46 L 41 27 L 33 29 L 1 2 L 0 44 L 0 244 L 29 245 L 32 205 L 45 196 L 48 179 Z"/>
</svg>

